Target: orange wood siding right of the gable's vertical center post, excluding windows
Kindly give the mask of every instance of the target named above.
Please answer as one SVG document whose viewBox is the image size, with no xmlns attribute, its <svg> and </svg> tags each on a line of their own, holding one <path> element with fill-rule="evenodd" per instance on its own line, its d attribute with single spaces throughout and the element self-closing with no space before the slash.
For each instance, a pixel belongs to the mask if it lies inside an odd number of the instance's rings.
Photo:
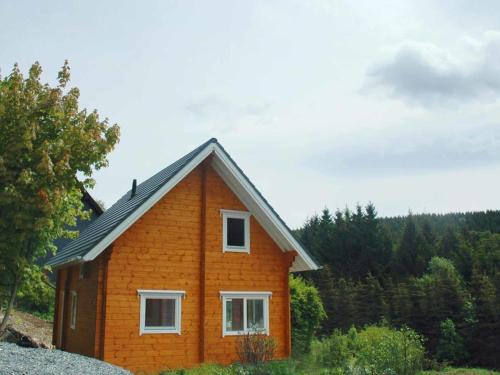
<svg viewBox="0 0 500 375">
<path fill-rule="evenodd" d="M 209 169 L 207 180 L 207 259 L 205 360 L 228 364 L 236 361 L 236 336 L 222 337 L 222 302 L 220 291 L 270 291 L 270 335 L 275 338 L 279 358 L 288 356 L 286 332 L 287 257 L 259 225 L 250 220 L 250 254 L 222 252 L 221 209 L 247 211 L 246 207 Z"/>
</svg>

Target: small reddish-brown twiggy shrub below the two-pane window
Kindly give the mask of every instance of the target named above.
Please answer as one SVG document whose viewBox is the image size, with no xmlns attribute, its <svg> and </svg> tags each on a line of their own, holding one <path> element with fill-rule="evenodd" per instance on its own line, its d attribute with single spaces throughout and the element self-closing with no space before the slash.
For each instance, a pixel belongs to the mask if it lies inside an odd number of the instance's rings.
<svg viewBox="0 0 500 375">
<path fill-rule="evenodd" d="M 261 332 L 250 332 L 238 337 L 236 353 L 241 363 L 260 364 L 274 357 L 276 341 Z"/>
</svg>

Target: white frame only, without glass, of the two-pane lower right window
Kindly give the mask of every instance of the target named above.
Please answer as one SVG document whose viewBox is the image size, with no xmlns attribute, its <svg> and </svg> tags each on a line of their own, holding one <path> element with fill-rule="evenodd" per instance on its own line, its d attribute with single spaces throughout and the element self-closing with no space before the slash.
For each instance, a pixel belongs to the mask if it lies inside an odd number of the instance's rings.
<svg viewBox="0 0 500 375">
<path fill-rule="evenodd" d="M 224 336 L 239 336 L 248 333 L 257 333 L 247 328 L 247 300 L 260 299 L 263 303 L 264 329 L 262 333 L 269 336 L 269 299 L 272 297 L 272 292 L 229 292 L 221 291 L 220 298 L 222 300 L 222 337 Z M 226 330 L 226 303 L 232 299 L 243 299 L 243 330 L 242 331 L 227 331 Z"/>
</svg>

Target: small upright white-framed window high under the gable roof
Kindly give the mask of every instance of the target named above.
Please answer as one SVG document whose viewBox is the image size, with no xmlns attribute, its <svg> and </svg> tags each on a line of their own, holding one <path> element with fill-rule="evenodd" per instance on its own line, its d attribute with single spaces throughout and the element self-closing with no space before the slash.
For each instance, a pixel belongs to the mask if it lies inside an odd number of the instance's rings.
<svg viewBox="0 0 500 375">
<path fill-rule="evenodd" d="M 250 212 L 221 210 L 222 251 L 250 253 Z"/>
</svg>

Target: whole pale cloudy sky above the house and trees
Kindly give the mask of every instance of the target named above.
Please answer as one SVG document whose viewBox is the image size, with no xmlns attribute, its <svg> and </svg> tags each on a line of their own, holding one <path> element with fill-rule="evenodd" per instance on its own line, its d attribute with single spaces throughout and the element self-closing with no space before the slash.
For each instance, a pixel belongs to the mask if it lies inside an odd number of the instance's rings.
<svg viewBox="0 0 500 375">
<path fill-rule="evenodd" d="M 0 2 L 0 74 L 65 59 L 121 128 L 111 206 L 216 137 L 291 227 L 500 209 L 500 2 Z"/>
</svg>

